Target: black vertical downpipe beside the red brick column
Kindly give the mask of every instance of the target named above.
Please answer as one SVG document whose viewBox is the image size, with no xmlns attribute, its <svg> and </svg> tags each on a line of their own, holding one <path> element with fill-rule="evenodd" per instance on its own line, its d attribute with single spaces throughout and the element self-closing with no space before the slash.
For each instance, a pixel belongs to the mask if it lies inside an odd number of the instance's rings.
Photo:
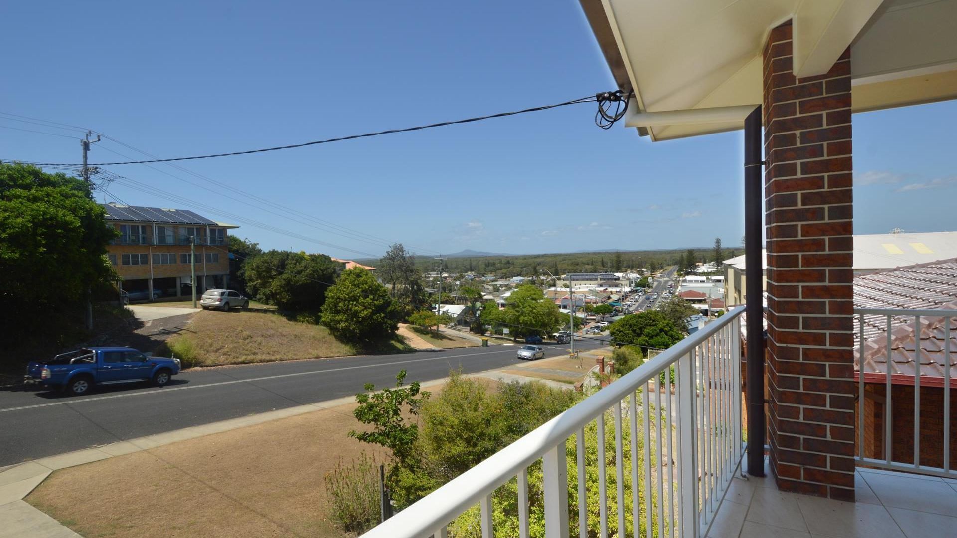
<svg viewBox="0 0 957 538">
<path fill-rule="evenodd" d="M 765 476 L 765 336 L 761 245 L 761 106 L 745 119 L 747 474 Z"/>
</svg>

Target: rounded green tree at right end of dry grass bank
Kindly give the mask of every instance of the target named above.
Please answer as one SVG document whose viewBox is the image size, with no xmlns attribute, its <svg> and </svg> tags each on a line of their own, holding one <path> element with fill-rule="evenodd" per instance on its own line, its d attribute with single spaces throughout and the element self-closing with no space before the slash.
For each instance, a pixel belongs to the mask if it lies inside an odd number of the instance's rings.
<svg viewBox="0 0 957 538">
<path fill-rule="evenodd" d="M 361 267 L 344 271 L 326 292 L 323 325 L 349 344 L 388 340 L 398 327 L 396 317 L 389 290 Z"/>
</svg>

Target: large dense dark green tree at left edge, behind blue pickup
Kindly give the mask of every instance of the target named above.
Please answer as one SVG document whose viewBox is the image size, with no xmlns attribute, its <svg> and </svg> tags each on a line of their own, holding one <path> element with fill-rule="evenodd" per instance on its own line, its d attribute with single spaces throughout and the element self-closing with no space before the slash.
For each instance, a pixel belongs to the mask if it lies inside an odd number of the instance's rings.
<svg viewBox="0 0 957 538">
<path fill-rule="evenodd" d="M 17 339 L 2 344 L 81 330 L 88 293 L 116 281 L 106 246 L 119 234 L 105 217 L 82 180 L 0 164 L 0 325 Z"/>
</svg>

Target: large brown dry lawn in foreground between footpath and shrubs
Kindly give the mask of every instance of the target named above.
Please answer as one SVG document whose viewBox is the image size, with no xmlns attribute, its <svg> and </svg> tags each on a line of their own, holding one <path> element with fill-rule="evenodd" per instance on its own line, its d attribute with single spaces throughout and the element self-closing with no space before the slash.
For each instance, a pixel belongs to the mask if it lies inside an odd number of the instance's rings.
<svg viewBox="0 0 957 538">
<path fill-rule="evenodd" d="M 323 477 L 371 445 L 354 404 L 56 471 L 27 502 L 86 537 L 342 537 Z"/>
</svg>

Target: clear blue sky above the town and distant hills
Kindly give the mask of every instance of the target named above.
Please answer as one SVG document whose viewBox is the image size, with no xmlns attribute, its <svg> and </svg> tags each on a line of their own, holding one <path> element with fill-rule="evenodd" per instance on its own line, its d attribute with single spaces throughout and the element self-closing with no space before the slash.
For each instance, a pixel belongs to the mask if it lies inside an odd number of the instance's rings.
<svg viewBox="0 0 957 538">
<path fill-rule="evenodd" d="M 17 21 L 0 34 L 7 53 L 0 111 L 93 128 L 163 157 L 295 144 L 613 89 L 573 0 L 37 1 L 4 3 L 0 16 Z M 855 115 L 857 233 L 957 229 L 955 114 L 951 101 Z M 715 236 L 739 244 L 741 132 L 651 144 L 634 129 L 601 130 L 593 115 L 593 104 L 580 104 L 181 164 L 236 191 L 166 165 L 108 169 L 230 213 L 197 209 L 216 220 L 235 222 L 232 214 L 266 224 L 273 230 L 247 223 L 237 230 L 264 247 L 345 258 L 379 255 L 391 241 L 430 255 L 705 246 Z M 0 125 L 78 135 L 9 116 Z M 0 147 L 4 159 L 79 161 L 69 138 L 0 128 Z M 91 162 L 125 160 L 110 149 L 143 158 L 103 141 Z M 119 183 L 109 191 L 130 204 L 190 209 Z M 275 206 L 269 213 L 237 191 L 367 241 Z"/>
</svg>

